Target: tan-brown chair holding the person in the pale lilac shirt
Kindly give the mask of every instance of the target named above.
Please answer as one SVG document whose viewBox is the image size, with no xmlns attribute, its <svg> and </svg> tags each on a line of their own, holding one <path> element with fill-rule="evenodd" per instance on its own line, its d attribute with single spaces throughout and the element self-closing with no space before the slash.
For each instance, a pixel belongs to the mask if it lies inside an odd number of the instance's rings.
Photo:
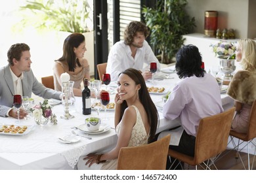
<svg viewBox="0 0 256 183">
<path fill-rule="evenodd" d="M 181 165 L 182 161 L 188 165 L 196 166 L 196 169 L 198 169 L 198 165 L 203 169 L 211 169 L 210 166 L 213 165 L 217 169 L 213 158 L 226 150 L 234 110 L 235 108 L 232 107 L 224 112 L 200 120 L 194 157 L 182 154 L 171 148 L 169 148 L 168 155 L 175 158 L 175 161 L 179 160 L 177 165 Z M 175 161 L 171 162 L 171 166 L 174 165 Z"/>
</svg>

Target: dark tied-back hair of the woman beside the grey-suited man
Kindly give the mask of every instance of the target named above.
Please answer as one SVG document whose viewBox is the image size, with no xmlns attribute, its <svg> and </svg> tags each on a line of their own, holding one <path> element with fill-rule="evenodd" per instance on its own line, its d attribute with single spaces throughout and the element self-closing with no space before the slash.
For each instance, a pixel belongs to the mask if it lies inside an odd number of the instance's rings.
<svg viewBox="0 0 256 183">
<path fill-rule="evenodd" d="M 68 63 L 68 71 L 75 71 L 76 63 L 81 67 L 79 60 L 75 57 L 74 48 L 77 48 L 82 42 L 85 41 L 85 36 L 81 33 L 72 33 L 69 35 L 63 44 L 62 57 L 55 61 L 66 61 Z"/>
</svg>

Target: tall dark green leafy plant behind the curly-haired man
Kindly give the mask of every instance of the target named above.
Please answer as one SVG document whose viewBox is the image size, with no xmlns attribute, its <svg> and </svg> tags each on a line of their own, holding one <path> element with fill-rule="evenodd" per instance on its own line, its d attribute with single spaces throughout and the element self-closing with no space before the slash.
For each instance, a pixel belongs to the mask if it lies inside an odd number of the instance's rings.
<svg viewBox="0 0 256 183">
<path fill-rule="evenodd" d="M 161 63 L 171 63 L 181 48 L 182 35 L 191 33 L 195 19 L 186 14 L 186 0 L 158 1 L 156 9 L 143 7 L 142 14 L 150 28 L 150 43 L 161 54 Z"/>
</svg>

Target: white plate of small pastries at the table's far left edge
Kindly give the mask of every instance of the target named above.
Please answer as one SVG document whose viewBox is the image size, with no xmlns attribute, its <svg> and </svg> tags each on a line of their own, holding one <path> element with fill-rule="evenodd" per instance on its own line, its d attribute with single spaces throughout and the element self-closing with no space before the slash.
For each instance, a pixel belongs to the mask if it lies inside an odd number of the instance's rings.
<svg viewBox="0 0 256 183">
<path fill-rule="evenodd" d="M 3 124 L 0 125 L 0 135 L 21 136 L 27 135 L 32 130 L 33 125 L 14 125 Z"/>
</svg>

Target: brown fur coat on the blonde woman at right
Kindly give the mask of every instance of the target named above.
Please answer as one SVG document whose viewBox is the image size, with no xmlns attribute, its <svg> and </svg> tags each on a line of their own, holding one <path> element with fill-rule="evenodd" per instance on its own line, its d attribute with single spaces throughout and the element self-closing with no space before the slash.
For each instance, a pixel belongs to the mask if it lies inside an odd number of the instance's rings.
<svg viewBox="0 0 256 183">
<path fill-rule="evenodd" d="M 256 99 L 256 71 L 238 71 L 228 86 L 227 94 L 235 101 L 252 105 Z"/>
</svg>

